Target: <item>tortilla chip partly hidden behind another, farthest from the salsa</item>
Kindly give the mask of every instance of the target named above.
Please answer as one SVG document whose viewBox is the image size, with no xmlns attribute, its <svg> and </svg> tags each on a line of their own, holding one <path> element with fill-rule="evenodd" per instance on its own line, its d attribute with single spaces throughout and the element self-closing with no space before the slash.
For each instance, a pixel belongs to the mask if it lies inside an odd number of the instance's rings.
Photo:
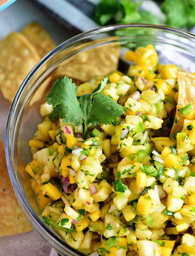
<svg viewBox="0 0 195 256">
<path fill-rule="evenodd" d="M 38 22 L 29 23 L 21 33 L 34 45 L 41 58 L 56 47 L 51 36 Z"/>
</svg>

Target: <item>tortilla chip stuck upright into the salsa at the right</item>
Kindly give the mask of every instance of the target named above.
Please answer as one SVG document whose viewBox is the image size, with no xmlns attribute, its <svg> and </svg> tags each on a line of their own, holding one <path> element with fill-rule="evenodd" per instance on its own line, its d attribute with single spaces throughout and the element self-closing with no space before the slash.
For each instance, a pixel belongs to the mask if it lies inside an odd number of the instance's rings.
<svg viewBox="0 0 195 256">
<path fill-rule="evenodd" d="M 175 119 L 170 134 L 174 134 L 182 130 L 185 116 L 182 116 L 180 109 L 191 103 L 192 109 L 195 110 L 195 76 L 191 73 L 177 73 L 179 95 L 176 107 Z"/>
</svg>

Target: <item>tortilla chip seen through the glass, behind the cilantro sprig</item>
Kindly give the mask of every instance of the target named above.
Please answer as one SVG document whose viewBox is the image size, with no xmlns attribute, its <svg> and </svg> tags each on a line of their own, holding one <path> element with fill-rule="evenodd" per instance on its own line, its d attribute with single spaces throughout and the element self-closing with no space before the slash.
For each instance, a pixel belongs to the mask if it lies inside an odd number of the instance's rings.
<svg viewBox="0 0 195 256">
<path fill-rule="evenodd" d="M 90 43 L 88 44 L 90 48 Z M 105 76 L 117 69 L 119 54 L 120 45 L 118 43 L 99 45 L 65 60 L 56 69 L 54 76 L 68 76 L 82 82 L 95 76 Z"/>
</svg>

